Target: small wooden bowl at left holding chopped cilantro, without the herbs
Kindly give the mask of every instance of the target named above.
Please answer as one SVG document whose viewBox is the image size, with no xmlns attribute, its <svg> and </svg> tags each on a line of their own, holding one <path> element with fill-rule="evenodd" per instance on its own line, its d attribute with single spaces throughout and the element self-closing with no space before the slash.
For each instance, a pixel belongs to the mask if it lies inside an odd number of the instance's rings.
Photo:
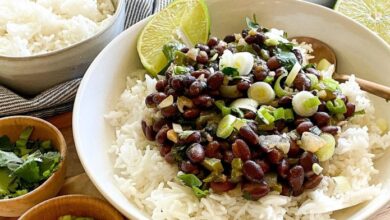
<svg viewBox="0 0 390 220">
<path fill-rule="evenodd" d="M 49 122 L 28 116 L 13 116 L 0 119 L 0 135 L 7 135 L 15 142 L 23 129 L 33 126 L 31 139 L 51 140 L 61 154 L 58 170 L 33 191 L 13 199 L 0 200 L 0 216 L 17 217 L 36 204 L 57 195 L 65 182 L 66 143 L 61 132 Z"/>
</svg>

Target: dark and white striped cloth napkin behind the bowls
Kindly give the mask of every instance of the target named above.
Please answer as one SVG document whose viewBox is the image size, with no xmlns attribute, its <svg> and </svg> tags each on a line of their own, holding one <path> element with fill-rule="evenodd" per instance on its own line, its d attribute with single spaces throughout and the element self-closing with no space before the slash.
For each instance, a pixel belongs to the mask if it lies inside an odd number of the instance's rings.
<svg viewBox="0 0 390 220">
<path fill-rule="evenodd" d="M 127 0 L 125 27 L 137 23 L 166 7 L 172 0 Z M 334 0 L 310 0 L 331 7 Z M 1 85 L 0 117 L 24 114 L 36 117 L 49 117 L 71 111 L 81 78 L 64 82 L 50 88 L 36 97 L 24 98 Z"/>
</svg>

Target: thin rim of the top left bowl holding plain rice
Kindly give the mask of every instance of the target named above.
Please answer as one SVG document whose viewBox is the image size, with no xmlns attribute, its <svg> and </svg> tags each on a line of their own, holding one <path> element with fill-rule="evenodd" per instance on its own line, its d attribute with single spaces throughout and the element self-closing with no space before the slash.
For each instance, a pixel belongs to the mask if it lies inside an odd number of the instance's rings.
<svg viewBox="0 0 390 220">
<path fill-rule="evenodd" d="M 89 38 L 86 38 L 82 41 L 79 41 L 77 43 L 74 43 L 72 45 L 69 45 L 67 47 L 64 47 L 64 48 L 61 48 L 58 50 L 50 51 L 48 53 L 35 54 L 35 55 L 31 55 L 31 56 L 6 56 L 6 55 L 0 54 L 0 59 L 8 60 L 8 61 L 24 61 L 24 60 L 31 60 L 31 59 L 40 59 L 40 58 L 45 58 L 45 57 L 65 53 L 68 50 L 71 50 L 72 48 L 75 48 L 79 45 L 86 44 L 87 42 L 92 41 L 92 40 L 98 38 L 99 36 L 101 36 L 103 33 L 107 32 L 108 29 L 110 27 L 112 27 L 114 25 L 114 23 L 118 20 L 119 15 L 122 13 L 122 9 L 124 8 L 124 6 L 125 6 L 125 0 L 117 0 L 116 10 L 115 10 L 114 14 L 110 17 L 111 20 L 106 25 L 106 27 L 101 29 L 100 31 L 98 31 L 94 35 L 90 36 Z"/>
</svg>

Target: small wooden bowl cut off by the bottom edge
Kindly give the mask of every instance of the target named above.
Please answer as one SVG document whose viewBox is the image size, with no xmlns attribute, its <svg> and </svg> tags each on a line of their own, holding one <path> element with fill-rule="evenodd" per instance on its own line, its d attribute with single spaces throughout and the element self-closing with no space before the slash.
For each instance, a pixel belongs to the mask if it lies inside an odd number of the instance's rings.
<svg viewBox="0 0 390 220">
<path fill-rule="evenodd" d="M 107 202 L 85 195 L 60 196 L 33 207 L 19 220 L 57 220 L 64 215 L 91 217 L 95 220 L 123 220 Z"/>
</svg>

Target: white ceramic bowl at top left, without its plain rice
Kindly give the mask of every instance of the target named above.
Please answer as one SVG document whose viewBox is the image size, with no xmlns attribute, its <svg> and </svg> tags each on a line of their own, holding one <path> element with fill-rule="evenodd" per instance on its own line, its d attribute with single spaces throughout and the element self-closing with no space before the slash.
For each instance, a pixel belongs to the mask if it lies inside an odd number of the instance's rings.
<svg viewBox="0 0 390 220">
<path fill-rule="evenodd" d="M 94 36 L 50 53 L 0 56 L 0 84 L 24 95 L 35 95 L 61 82 L 82 76 L 99 52 L 124 29 L 125 0 L 113 0 L 116 11 Z"/>
</svg>

